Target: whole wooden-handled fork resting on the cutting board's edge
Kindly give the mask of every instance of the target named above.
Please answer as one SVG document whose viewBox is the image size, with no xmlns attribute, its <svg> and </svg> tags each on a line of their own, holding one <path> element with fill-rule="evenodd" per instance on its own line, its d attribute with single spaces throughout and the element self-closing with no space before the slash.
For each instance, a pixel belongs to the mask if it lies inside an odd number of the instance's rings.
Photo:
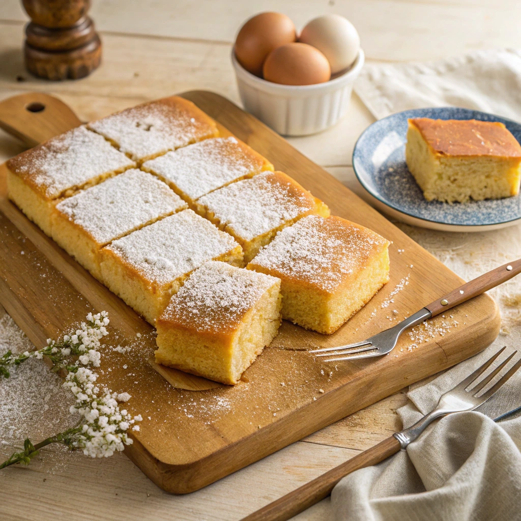
<svg viewBox="0 0 521 521">
<path fill-rule="evenodd" d="M 339 360 L 355 360 L 358 358 L 370 358 L 381 356 L 391 352 L 398 342 L 400 335 L 405 329 L 417 326 L 428 318 L 443 313 L 458 304 L 462 304 L 475 296 L 481 295 L 489 289 L 499 286 L 499 284 L 515 277 L 521 272 L 521 259 L 517 259 L 510 264 L 503 264 L 499 268 L 480 275 L 479 277 L 466 282 L 459 288 L 447 293 L 440 299 L 421 308 L 410 317 L 396 324 L 395 326 L 375 334 L 373 337 L 353 344 L 339 345 L 334 348 L 314 349 L 309 353 L 318 353 L 316 356 L 325 356 L 327 362 L 337 362 Z M 354 349 L 357 348 L 357 349 Z M 361 353 L 353 356 L 354 353 Z M 335 356 L 335 358 L 329 358 Z"/>
</svg>

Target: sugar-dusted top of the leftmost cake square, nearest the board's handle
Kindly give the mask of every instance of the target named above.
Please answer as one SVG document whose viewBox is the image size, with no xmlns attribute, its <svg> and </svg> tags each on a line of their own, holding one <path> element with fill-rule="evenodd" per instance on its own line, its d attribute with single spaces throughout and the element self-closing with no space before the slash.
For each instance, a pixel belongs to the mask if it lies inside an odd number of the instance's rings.
<svg viewBox="0 0 521 521">
<path fill-rule="evenodd" d="M 48 199 L 132 166 L 134 162 L 125 154 L 85 127 L 69 130 L 7 162 L 11 172 Z"/>
</svg>

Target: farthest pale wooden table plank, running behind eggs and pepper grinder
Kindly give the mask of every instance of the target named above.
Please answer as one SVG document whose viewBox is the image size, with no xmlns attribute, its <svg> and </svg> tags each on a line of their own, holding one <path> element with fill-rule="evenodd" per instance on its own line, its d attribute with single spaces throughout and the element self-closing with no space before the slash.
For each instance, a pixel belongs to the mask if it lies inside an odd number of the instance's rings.
<svg viewBox="0 0 521 521">
<path fill-rule="evenodd" d="M 27 19 L 16 0 L 4 4 L 0 18 Z M 265 10 L 283 11 L 297 28 L 325 13 L 346 16 L 358 29 L 367 57 L 376 60 L 434 59 L 470 49 L 521 46 L 516 0 L 200 0 L 197 7 L 189 0 L 175 5 L 156 0 L 152 7 L 140 0 L 111 0 L 94 2 L 90 15 L 102 37 L 103 31 L 116 31 L 229 44 L 245 19 Z"/>
</svg>

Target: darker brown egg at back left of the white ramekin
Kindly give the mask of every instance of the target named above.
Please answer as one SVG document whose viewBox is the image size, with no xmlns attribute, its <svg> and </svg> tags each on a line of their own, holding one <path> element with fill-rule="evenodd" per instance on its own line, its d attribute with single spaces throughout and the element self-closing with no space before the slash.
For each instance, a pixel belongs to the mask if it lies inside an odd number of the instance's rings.
<svg viewBox="0 0 521 521">
<path fill-rule="evenodd" d="M 235 56 L 247 71 L 261 76 L 266 56 L 276 47 L 295 40 L 295 26 L 289 17 L 261 13 L 241 27 L 235 40 Z"/>
</svg>

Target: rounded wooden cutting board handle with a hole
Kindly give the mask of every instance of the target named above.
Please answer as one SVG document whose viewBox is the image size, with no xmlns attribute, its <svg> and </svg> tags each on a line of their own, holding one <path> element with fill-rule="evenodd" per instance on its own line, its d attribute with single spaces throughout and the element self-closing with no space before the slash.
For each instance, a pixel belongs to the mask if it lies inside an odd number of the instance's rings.
<svg viewBox="0 0 521 521">
<path fill-rule="evenodd" d="M 28 92 L 0 102 L 0 128 L 36 146 L 55 135 L 81 125 L 62 101 L 43 92 Z"/>
</svg>

